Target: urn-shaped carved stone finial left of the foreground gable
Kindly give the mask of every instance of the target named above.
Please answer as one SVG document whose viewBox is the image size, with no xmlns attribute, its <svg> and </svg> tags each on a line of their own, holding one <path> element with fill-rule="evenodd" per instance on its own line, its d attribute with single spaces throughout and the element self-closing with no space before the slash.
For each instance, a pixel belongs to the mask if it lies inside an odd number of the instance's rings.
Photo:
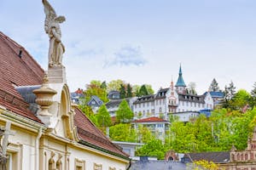
<svg viewBox="0 0 256 170">
<path fill-rule="evenodd" d="M 54 89 L 49 88 L 47 74 L 44 74 L 43 85 L 41 88 L 33 90 L 33 93 L 37 95 L 36 103 L 41 106 L 39 116 L 51 116 L 49 114 L 49 106 L 53 104 L 52 97 L 57 94 Z"/>
</svg>

